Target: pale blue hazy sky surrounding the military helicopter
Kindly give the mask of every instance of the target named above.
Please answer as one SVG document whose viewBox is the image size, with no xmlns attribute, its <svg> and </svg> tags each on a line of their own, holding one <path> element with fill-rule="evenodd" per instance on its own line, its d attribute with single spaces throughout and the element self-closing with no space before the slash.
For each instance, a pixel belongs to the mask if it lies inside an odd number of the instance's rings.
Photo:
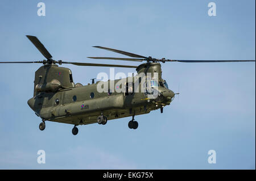
<svg viewBox="0 0 256 181">
<path fill-rule="evenodd" d="M 0 1 L 0 60 L 43 60 L 34 35 L 56 60 L 119 54 L 112 47 L 156 58 L 255 60 L 255 1 Z M 39 65 L 0 66 L 0 169 L 255 169 L 255 63 L 162 64 L 180 95 L 164 112 L 111 120 L 105 126 L 47 122 L 28 107 Z M 109 68 L 69 65 L 82 84 Z M 128 73 L 130 69 L 116 68 Z M 208 150 L 216 150 L 216 164 Z M 38 150 L 46 163 L 37 163 Z"/>
</svg>

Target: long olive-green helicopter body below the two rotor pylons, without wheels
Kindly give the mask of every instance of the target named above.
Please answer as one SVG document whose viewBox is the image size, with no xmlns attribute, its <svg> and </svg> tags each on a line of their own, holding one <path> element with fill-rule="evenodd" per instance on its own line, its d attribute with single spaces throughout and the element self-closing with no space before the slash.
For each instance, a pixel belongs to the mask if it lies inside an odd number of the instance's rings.
<svg viewBox="0 0 256 181">
<path fill-rule="evenodd" d="M 149 113 L 167 106 L 174 98 L 174 92 L 167 87 L 158 87 L 161 98 L 151 99 L 145 92 L 98 92 L 98 83 L 40 92 L 28 100 L 28 105 L 44 120 L 79 125 L 96 123 L 101 112 L 108 120 Z"/>
</svg>

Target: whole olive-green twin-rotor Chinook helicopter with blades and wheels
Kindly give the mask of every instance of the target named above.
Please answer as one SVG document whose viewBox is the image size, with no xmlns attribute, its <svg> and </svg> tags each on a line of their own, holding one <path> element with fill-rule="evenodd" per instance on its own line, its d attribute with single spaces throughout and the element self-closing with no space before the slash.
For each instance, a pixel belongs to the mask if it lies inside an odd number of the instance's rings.
<svg viewBox="0 0 256 181">
<path fill-rule="evenodd" d="M 39 125 L 40 130 L 46 128 L 45 121 L 56 121 L 59 123 L 68 123 L 75 125 L 72 133 L 78 133 L 77 125 L 98 123 L 105 125 L 108 120 L 118 119 L 121 117 L 132 116 L 128 126 L 130 129 L 137 129 L 138 122 L 134 120 L 135 115 L 149 113 L 152 110 L 160 109 L 163 113 L 163 107 L 169 105 L 175 97 L 175 93 L 168 89 L 167 82 L 162 79 L 162 69 L 159 62 L 249 62 L 255 60 L 168 60 L 165 58 L 156 59 L 144 57 L 138 54 L 124 52 L 122 50 L 96 46 L 112 52 L 124 54 L 133 58 L 114 58 L 114 57 L 88 57 L 94 59 L 106 60 L 124 60 L 137 61 L 146 63 L 139 66 L 129 65 L 111 65 L 111 64 L 94 64 L 82 62 L 65 62 L 62 60 L 55 61 L 51 54 L 35 36 L 28 36 L 28 39 L 36 48 L 46 57 L 43 61 L 9 61 L 0 63 L 41 63 L 41 66 L 35 72 L 34 96 L 28 100 L 28 106 L 35 114 L 42 118 Z M 134 91 L 135 78 L 125 78 L 124 83 L 118 85 L 118 88 L 125 90 L 117 92 L 108 89 L 107 92 L 98 92 L 97 85 L 100 81 L 86 86 L 81 83 L 74 83 L 72 72 L 68 68 L 59 67 L 57 64 L 73 64 L 79 66 L 106 66 L 119 68 L 136 68 L 137 73 L 157 73 L 158 79 L 147 77 L 149 86 L 157 88 L 158 94 L 155 98 L 148 98 L 149 92 Z M 132 81 L 127 81 L 127 79 Z M 114 85 L 119 80 L 114 80 Z M 108 85 L 111 84 L 109 80 Z M 139 79 L 139 86 L 142 81 Z M 179 93 L 177 93 L 179 94 Z"/>
</svg>

